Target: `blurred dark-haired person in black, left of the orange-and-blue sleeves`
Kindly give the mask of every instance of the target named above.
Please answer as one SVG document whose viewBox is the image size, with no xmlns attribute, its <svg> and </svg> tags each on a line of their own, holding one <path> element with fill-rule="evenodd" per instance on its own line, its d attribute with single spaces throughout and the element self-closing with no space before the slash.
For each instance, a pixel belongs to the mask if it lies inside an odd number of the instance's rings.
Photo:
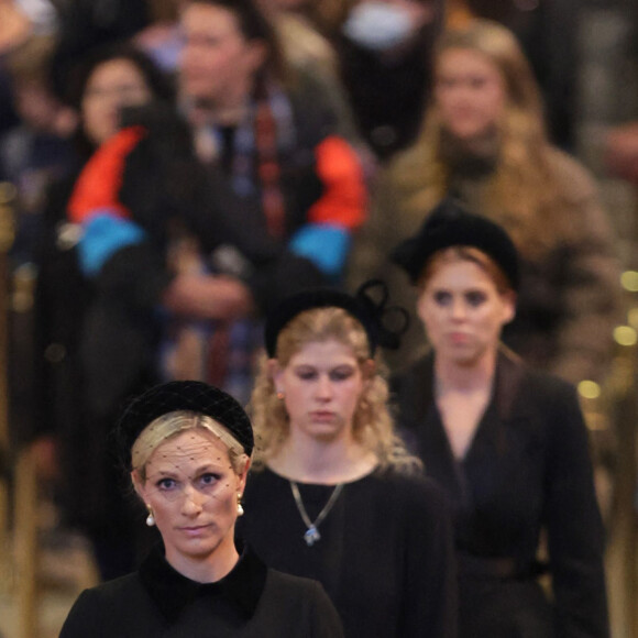
<svg viewBox="0 0 638 638">
<path fill-rule="evenodd" d="M 57 471 L 63 524 L 88 535 L 105 579 L 132 568 L 135 540 L 107 446 L 110 422 L 97 418 L 87 402 L 80 348 L 96 290 L 80 272 L 78 233 L 66 210 L 78 175 L 118 132 L 122 112 L 150 101 L 170 103 L 173 98 L 167 78 L 128 44 L 98 47 L 78 63 L 67 87 L 78 117 L 74 162 L 48 189 L 37 242 L 32 436 L 42 465 Z"/>
</svg>

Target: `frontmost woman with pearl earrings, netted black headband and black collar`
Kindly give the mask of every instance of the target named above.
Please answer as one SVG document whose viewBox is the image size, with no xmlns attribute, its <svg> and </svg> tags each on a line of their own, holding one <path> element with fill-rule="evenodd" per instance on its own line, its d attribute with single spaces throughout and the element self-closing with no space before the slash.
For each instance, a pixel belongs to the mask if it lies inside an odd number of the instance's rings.
<svg viewBox="0 0 638 638">
<path fill-rule="evenodd" d="M 234 398 L 197 381 L 154 386 L 129 404 L 116 439 L 140 518 L 162 542 L 134 573 L 85 590 L 62 638 L 343 635 L 319 583 L 266 568 L 234 538 L 254 444 Z"/>
</svg>

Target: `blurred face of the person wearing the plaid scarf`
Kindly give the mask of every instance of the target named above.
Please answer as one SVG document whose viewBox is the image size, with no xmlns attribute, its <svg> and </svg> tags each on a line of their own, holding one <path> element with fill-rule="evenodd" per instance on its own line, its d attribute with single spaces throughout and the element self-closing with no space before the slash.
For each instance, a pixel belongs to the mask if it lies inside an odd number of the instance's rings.
<svg viewBox="0 0 638 638">
<path fill-rule="evenodd" d="M 179 63 L 183 97 L 202 108 L 241 106 L 265 61 L 265 45 L 249 41 L 232 11 L 193 2 L 182 13 Z"/>
</svg>

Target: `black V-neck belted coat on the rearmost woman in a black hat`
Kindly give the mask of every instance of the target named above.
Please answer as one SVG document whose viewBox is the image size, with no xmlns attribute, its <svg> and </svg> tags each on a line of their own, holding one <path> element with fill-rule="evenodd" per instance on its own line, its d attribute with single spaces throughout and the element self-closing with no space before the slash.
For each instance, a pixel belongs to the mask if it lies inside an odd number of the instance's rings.
<svg viewBox="0 0 638 638">
<path fill-rule="evenodd" d="M 433 400 L 433 358 L 394 380 L 400 425 L 452 504 L 460 636 L 608 636 L 587 433 L 573 387 L 499 354 L 492 400 L 454 460 Z M 553 604 L 536 582 L 547 531 Z"/>
</svg>

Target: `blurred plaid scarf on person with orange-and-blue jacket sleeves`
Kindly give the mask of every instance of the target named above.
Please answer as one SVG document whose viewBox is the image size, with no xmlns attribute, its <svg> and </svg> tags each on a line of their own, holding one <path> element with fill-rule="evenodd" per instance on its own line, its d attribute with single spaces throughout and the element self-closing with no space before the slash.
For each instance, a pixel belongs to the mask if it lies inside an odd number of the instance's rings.
<svg viewBox="0 0 638 638">
<path fill-rule="evenodd" d="M 284 238 L 286 210 L 279 184 L 280 162 L 296 146 L 288 98 L 275 85 L 262 84 L 233 134 L 228 136 L 228 130 L 226 133 L 216 127 L 205 131 L 217 150 L 217 161 L 226 164 L 239 196 L 261 195 L 268 231 L 275 238 Z M 178 238 L 172 253 L 176 272 L 211 272 L 191 238 Z M 253 319 L 227 323 L 172 317 L 161 350 L 162 375 L 165 380 L 205 381 L 240 402 L 248 402 L 261 346 L 261 322 Z"/>
</svg>

